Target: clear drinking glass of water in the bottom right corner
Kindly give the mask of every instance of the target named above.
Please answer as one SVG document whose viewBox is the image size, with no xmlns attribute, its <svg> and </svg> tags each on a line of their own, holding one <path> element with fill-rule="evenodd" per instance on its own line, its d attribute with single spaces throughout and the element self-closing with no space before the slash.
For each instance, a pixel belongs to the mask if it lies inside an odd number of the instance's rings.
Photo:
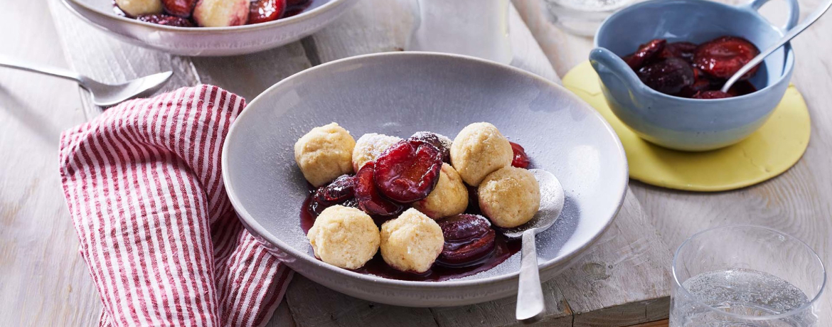
<svg viewBox="0 0 832 327">
<path fill-rule="evenodd" d="M 671 327 L 806 327 L 826 283 L 820 257 L 778 230 L 727 225 L 691 236 L 673 257 Z"/>
</svg>

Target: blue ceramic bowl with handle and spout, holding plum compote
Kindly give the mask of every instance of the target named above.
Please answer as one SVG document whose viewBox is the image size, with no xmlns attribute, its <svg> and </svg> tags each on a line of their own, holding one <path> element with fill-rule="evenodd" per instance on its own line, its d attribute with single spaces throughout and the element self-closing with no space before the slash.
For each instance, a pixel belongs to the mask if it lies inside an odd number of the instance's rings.
<svg viewBox="0 0 832 327">
<path fill-rule="evenodd" d="M 673 97 L 647 87 L 622 60 L 654 38 L 699 44 L 723 35 L 745 37 L 763 49 L 795 26 L 775 27 L 756 11 L 768 0 L 729 6 L 706 0 L 653 0 L 626 7 L 607 18 L 595 36 L 589 59 L 601 77 L 612 112 L 647 141 L 683 151 L 706 151 L 742 141 L 768 119 L 789 86 L 795 66 L 790 45 L 765 59 L 750 82 L 759 91 L 741 97 L 701 100 Z"/>
</svg>

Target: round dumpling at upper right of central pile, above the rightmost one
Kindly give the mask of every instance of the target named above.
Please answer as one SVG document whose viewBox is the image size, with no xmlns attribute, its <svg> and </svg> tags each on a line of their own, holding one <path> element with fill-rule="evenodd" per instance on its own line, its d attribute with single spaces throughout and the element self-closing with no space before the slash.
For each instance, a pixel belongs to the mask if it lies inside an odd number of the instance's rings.
<svg viewBox="0 0 832 327">
<path fill-rule="evenodd" d="M 451 145 L 451 164 L 470 186 L 478 186 L 488 174 L 510 166 L 513 156 L 508 139 L 488 122 L 465 126 Z"/>
</svg>

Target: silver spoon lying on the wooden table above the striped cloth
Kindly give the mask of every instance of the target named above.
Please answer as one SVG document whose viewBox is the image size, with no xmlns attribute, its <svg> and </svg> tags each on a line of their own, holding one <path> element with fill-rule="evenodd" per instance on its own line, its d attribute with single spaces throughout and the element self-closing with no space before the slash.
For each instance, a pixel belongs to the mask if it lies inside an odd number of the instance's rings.
<svg viewBox="0 0 832 327">
<path fill-rule="evenodd" d="M 156 92 L 156 90 L 158 90 L 159 87 L 161 87 L 167 79 L 171 78 L 171 75 L 173 75 L 173 72 L 170 71 L 160 72 L 150 76 L 136 78 L 135 80 L 121 84 L 110 85 L 93 81 L 90 77 L 82 76 L 76 72 L 66 69 L 32 65 L 27 62 L 19 62 L 8 57 L 0 57 L 0 67 L 22 69 L 28 72 L 39 72 L 78 82 L 78 84 L 86 88 L 87 91 L 92 94 L 92 102 L 99 107 L 110 107 L 132 97 Z"/>
</svg>

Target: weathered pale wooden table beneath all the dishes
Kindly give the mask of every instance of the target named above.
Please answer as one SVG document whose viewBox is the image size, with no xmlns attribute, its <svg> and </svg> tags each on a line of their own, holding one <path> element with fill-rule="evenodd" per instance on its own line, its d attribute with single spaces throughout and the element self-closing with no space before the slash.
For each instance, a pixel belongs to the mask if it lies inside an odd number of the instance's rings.
<svg viewBox="0 0 832 327">
<path fill-rule="evenodd" d="M 513 65 L 553 80 L 585 60 L 591 40 L 547 21 L 539 0 L 515 0 Z M 815 0 L 801 2 L 813 7 Z M 48 5 L 48 6 L 47 6 Z M 279 49 L 223 58 L 174 57 L 106 37 L 57 0 L 4 3 L 0 55 L 72 69 L 102 82 L 173 70 L 165 90 L 211 83 L 251 99 L 295 72 L 342 57 L 399 51 L 412 26 L 406 0 L 362 0 L 323 31 Z M 52 15 L 46 10 L 52 8 Z M 518 14 L 519 12 L 519 14 Z M 525 21 L 525 24 L 523 23 Z M 795 42 L 795 84 L 811 108 L 832 89 L 832 42 L 825 17 Z M 534 40 L 537 39 L 537 42 Z M 538 46 L 538 43 L 540 46 Z M 542 48 L 542 49 L 541 49 Z M 547 60 L 548 59 L 548 60 Z M 550 63 L 551 62 L 551 63 Z M 554 67 L 554 70 L 552 70 Z M 0 321 L 93 325 L 97 291 L 77 255 L 77 236 L 57 174 L 60 131 L 99 112 L 72 82 L 27 72 L 0 75 Z M 740 191 L 694 194 L 631 182 L 610 230 L 572 269 L 544 284 L 545 325 L 635 325 L 666 318 L 671 254 L 711 225 L 770 225 L 807 241 L 830 262 L 830 115 L 812 110 L 804 159 L 784 176 Z M 643 208 L 643 209 L 642 209 Z M 654 227 L 655 226 L 655 227 Z M 297 275 L 270 325 L 515 325 L 514 300 L 457 308 L 409 309 L 340 295 Z M 829 296 L 821 303 L 829 321 Z M 666 324 L 659 322 L 658 324 Z"/>
</svg>

